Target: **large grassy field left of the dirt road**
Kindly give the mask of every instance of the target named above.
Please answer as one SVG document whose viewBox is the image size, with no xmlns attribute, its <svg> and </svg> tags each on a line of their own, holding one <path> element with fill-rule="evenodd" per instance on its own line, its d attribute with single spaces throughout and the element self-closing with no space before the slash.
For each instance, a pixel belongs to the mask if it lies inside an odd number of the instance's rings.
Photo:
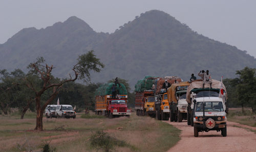
<svg viewBox="0 0 256 152">
<path fill-rule="evenodd" d="M 165 122 L 150 117 L 114 119 L 78 114 L 76 119 L 44 118 L 44 131 L 33 131 L 35 113 L 27 113 L 23 120 L 18 114 L 0 115 L 0 151 L 41 151 L 49 143 L 56 151 L 96 151 L 90 137 L 103 130 L 113 138 L 125 142 L 116 151 L 166 151 L 179 141 L 180 131 Z"/>
</svg>

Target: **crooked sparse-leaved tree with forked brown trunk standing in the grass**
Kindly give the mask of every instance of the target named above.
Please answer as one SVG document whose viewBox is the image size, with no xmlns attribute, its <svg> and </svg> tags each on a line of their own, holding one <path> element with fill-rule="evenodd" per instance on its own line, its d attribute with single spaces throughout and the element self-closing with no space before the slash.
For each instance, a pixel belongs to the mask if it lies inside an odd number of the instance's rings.
<svg viewBox="0 0 256 152">
<path fill-rule="evenodd" d="M 28 66 L 29 73 L 36 75 L 42 80 L 42 84 L 40 89 L 34 87 L 33 82 L 26 78 L 24 81 L 28 88 L 34 91 L 35 94 L 35 103 L 36 103 L 36 127 L 35 130 L 42 131 L 42 117 L 44 114 L 44 110 L 48 104 L 52 102 L 52 100 L 59 93 L 59 89 L 63 86 L 63 84 L 68 82 L 74 82 L 77 79 L 83 79 L 84 82 L 90 81 L 90 71 L 93 70 L 95 72 L 99 72 L 104 65 L 99 61 L 98 58 L 93 54 L 93 50 L 89 51 L 87 54 L 83 54 L 78 57 L 77 64 L 73 67 L 73 76 L 70 74 L 70 78 L 66 78 L 63 80 L 56 80 L 51 75 L 53 70 L 53 65 L 49 66 L 45 63 L 44 58 L 37 58 L 37 61 L 30 63 Z M 50 91 L 50 96 L 46 100 L 46 102 L 42 103 L 41 106 L 41 97 L 46 92 Z"/>
</svg>

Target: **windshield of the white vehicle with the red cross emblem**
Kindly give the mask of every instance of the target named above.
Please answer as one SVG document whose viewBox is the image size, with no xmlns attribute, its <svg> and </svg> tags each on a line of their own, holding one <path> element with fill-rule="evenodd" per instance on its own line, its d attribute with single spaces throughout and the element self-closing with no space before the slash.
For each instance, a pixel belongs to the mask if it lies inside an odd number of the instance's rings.
<svg viewBox="0 0 256 152">
<path fill-rule="evenodd" d="M 197 103 L 196 112 L 202 112 L 203 109 L 205 112 L 223 111 L 223 105 L 222 102 L 205 102 L 205 104 L 203 104 L 202 102 Z"/>
</svg>

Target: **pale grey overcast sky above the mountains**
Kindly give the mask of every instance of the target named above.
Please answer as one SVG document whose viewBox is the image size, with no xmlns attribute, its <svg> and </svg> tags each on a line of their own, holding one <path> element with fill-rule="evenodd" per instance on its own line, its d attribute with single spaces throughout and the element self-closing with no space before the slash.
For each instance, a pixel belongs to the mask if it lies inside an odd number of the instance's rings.
<svg viewBox="0 0 256 152">
<path fill-rule="evenodd" d="M 0 0 L 0 44 L 23 28 L 46 28 L 70 16 L 86 21 L 96 32 L 113 33 L 135 16 L 153 9 L 168 13 L 199 34 L 256 57 L 255 0 Z"/>
</svg>

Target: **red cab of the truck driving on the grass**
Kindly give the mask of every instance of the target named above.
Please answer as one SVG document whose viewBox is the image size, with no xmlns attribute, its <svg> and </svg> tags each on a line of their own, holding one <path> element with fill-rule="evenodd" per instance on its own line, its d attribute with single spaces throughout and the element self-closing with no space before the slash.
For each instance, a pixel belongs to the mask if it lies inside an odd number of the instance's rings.
<svg viewBox="0 0 256 152">
<path fill-rule="evenodd" d="M 130 117 L 131 109 L 127 109 L 127 103 L 124 99 L 111 99 L 108 104 L 109 118 L 115 116 L 127 116 Z"/>
</svg>

